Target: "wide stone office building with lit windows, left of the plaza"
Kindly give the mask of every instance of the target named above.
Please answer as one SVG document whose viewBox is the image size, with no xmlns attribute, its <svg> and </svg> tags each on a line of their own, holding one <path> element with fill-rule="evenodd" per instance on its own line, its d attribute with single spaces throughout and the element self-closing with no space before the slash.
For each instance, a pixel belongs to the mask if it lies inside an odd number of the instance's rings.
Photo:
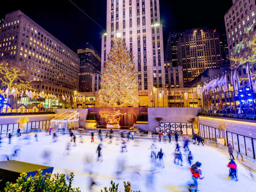
<svg viewBox="0 0 256 192">
<path fill-rule="evenodd" d="M 6 14 L 1 23 L 0 59 L 13 60 L 25 80 L 38 82 L 38 90 L 78 90 L 78 55 L 19 10 Z"/>
</svg>

